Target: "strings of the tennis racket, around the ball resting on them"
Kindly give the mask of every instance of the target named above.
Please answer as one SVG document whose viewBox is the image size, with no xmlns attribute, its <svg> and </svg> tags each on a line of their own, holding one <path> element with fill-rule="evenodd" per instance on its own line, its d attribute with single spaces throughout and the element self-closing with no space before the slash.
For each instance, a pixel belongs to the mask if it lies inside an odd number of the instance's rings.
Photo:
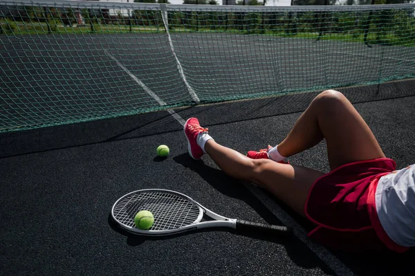
<svg viewBox="0 0 415 276">
<path fill-rule="evenodd" d="M 149 210 L 154 215 L 154 224 L 149 230 L 182 228 L 197 222 L 201 212 L 196 204 L 178 194 L 140 192 L 118 201 L 113 214 L 120 223 L 133 228 L 134 217 L 140 210 Z"/>
</svg>

